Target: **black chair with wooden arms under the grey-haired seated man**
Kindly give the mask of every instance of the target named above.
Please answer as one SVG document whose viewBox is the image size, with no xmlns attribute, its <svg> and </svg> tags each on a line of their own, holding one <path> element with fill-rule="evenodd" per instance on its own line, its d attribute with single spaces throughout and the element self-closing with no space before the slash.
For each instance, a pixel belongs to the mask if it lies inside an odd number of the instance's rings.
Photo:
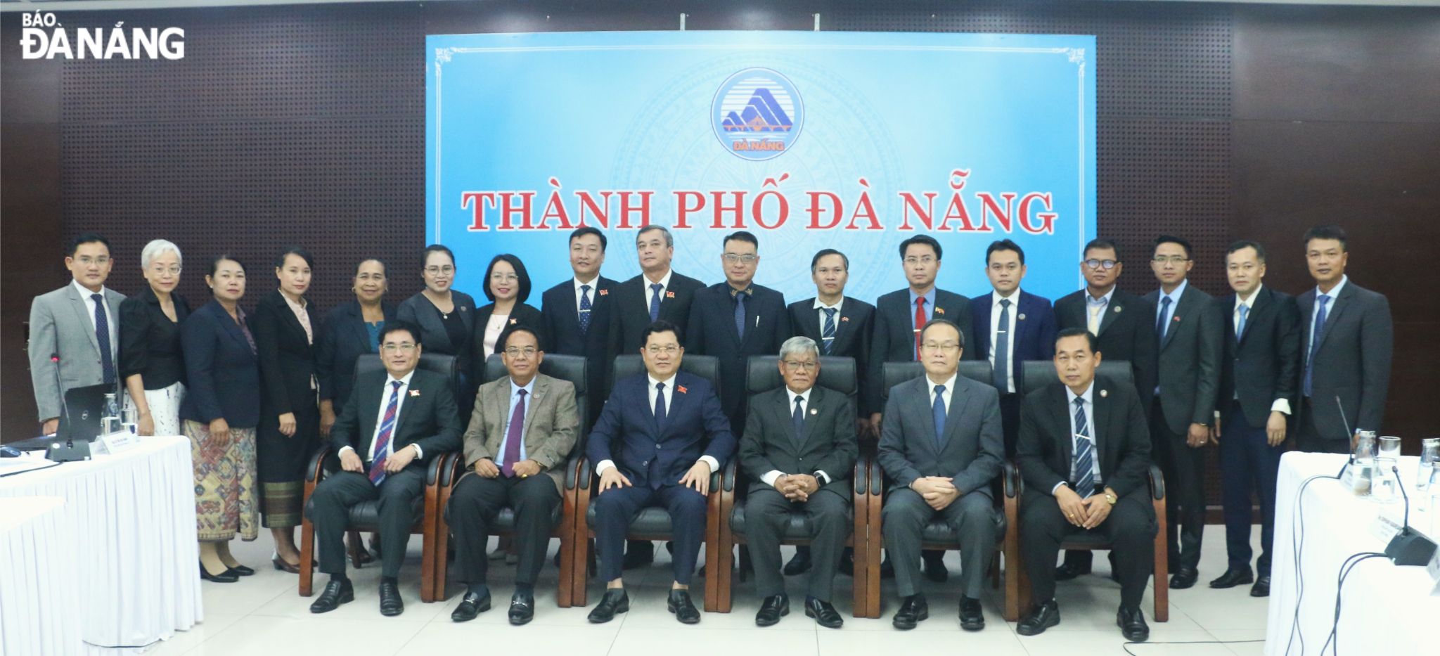
<svg viewBox="0 0 1440 656">
<path fill-rule="evenodd" d="M 780 378 L 778 355 L 750 355 L 746 363 L 746 391 L 750 396 L 775 390 L 785 384 Z M 815 381 L 816 386 L 825 387 L 828 390 L 838 391 L 850 397 L 851 401 L 857 401 L 858 383 L 855 378 L 855 360 L 847 357 L 829 357 L 822 355 L 819 358 L 819 377 Z M 865 580 L 865 545 L 868 532 L 865 531 L 865 518 L 868 516 L 867 491 L 868 486 L 868 468 L 870 462 L 865 456 L 860 456 L 855 460 L 855 468 L 851 470 L 852 478 L 852 505 L 854 512 L 854 531 L 847 541 L 847 547 L 855 551 L 855 588 L 854 588 L 854 609 L 852 614 L 861 617 L 864 611 L 864 580 Z M 726 478 L 721 480 L 721 504 L 724 506 L 726 515 L 730 518 L 729 522 L 720 528 L 720 571 L 724 577 L 720 581 L 720 611 L 729 613 L 730 600 L 730 586 L 732 586 L 732 562 L 734 545 L 746 544 L 744 539 L 744 504 L 743 499 L 736 499 L 737 492 L 743 493 L 746 489 L 746 476 L 729 475 L 732 468 L 727 468 Z M 780 535 L 780 544 L 791 545 L 806 545 L 811 542 L 811 535 L 814 528 L 809 525 L 809 518 L 804 512 L 791 512 L 789 524 L 785 527 L 785 532 Z M 744 573 L 742 571 L 742 575 Z"/>
</svg>

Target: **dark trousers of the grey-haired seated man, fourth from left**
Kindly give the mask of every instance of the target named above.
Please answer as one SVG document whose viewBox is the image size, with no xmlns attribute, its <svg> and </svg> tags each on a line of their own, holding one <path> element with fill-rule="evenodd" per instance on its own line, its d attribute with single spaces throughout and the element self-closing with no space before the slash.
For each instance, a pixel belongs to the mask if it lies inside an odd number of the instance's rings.
<svg viewBox="0 0 1440 656">
<path fill-rule="evenodd" d="M 760 597 L 785 591 L 780 574 L 780 538 L 792 512 L 804 512 L 811 527 L 811 570 L 805 594 L 829 601 L 840 571 L 840 554 L 851 534 L 850 499 L 821 489 L 809 501 L 792 502 L 775 488 L 752 488 L 744 501 L 744 541 L 755 564 L 755 588 Z"/>
</svg>

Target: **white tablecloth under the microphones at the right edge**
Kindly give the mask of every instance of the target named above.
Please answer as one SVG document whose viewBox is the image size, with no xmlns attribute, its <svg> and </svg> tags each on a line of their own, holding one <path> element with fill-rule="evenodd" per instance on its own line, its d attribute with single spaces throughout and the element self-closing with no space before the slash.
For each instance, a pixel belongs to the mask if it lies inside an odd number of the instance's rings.
<svg viewBox="0 0 1440 656">
<path fill-rule="evenodd" d="M 1300 547 L 1300 577 L 1296 575 L 1292 535 L 1299 535 L 1296 493 L 1315 475 L 1333 476 L 1345 456 L 1331 453 L 1286 453 L 1280 459 L 1276 486 L 1274 561 L 1270 574 L 1270 621 L 1266 656 L 1319 655 L 1335 626 L 1335 583 L 1341 565 L 1352 554 L 1385 551 L 1371 534 L 1375 516 L 1398 519 L 1403 502 L 1375 504 L 1355 496 L 1338 480 L 1318 479 L 1305 488 L 1305 544 Z M 1436 531 L 1424 509 L 1428 499 L 1414 489 L 1417 457 L 1400 459 L 1401 483 L 1410 492 L 1410 522 L 1430 535 Z M 1297 584 L 1303 580 L 1303 594 Z M 1336 630 L 1341 655 L 1421 655 L 1440 652 L 1440 597 L 1431 597 L 1434 583 L 1424 567 L 1395 567 L 1388 558 L 1369 558 L 1345 578 L 1341 620 Z M 1296 621 L 1296 604 L 1300 607 Z M 1292 637 L 1292 629 L 1293 637 Z M 1303 647 L 1302 647 L 1303 642 Z M 1326 650 L 1326 653 L 1329 653 Z"/>
</svg>

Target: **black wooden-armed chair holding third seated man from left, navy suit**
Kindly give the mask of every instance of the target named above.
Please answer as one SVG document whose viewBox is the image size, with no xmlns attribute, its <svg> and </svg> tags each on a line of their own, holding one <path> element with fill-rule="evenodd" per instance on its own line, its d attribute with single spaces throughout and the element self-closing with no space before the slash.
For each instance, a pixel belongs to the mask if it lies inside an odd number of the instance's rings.
<svg viewBox="0 0 1440 656">
<path fill-rule="evenodd" d="M 680 363 L 680 370 L 698 375 L 710 381 L 716 393 L 720 391 L 720 358 L 714 355 L 685 355 Z M 645 363 L 641 355 L 618 355 L 615 358 L 613 380 L 621 381 L 631 375 L 644 375 Z M 589 434 L 586 434 L 589 437 Z M 706 512 L 706 611 L 714 613 L 719 609 L 719 583 L 720 577 L 714 575 L 720 565 L 720 485 L 726 469 L 734 468 L 734 459 L 730 459 L 720 472 L 713 472 L 710 475 L 710 509 Z M 583 485 L 577 485 L 577 493 L 575 496 L 575 512 L 576 512 L 576 527 L 575 527 L 575 591 L 570 596 L 570 601 L 575 606 L 585 606 L 586 601 L 586 583 L 589 577 L 586 575 L 586 564 L 590 560 L 590 539 L 595 538 L 595 508 L 590 506 L 590 496 L 596 495 L 595 486 L 599 483 L 599 478 L 595 476 L 595 465 L 589 457 L 580 459 L 579 480 Z M 732 475 L 733 476 L 733 475 Z M 583 522 L 583 524 L 582 524 Z M 626 531 L 626 539 L 671 539 L 674 527 L 670 522 L 670 512 L 664 508 L 645 508 L 631 519 L 629 531 Z"/>
</svg>

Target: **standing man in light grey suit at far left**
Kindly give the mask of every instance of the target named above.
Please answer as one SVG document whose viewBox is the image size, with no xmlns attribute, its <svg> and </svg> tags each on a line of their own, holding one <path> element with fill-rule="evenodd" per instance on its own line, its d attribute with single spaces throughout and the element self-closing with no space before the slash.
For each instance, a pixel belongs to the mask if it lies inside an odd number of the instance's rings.
<svg viewBox="0 0 1440 656">
<path fill-rule="evenodd" d="M 60 424 L 65 390 L 115 386 L 120 302 L 125 295 L 105 288 L 112 266 L 109 242 L 84 233 L 71 242 L 65 256 L 73 281 L 30 304 L 26 351 L 43 434 L 55 433 Z"/>
</svg>

